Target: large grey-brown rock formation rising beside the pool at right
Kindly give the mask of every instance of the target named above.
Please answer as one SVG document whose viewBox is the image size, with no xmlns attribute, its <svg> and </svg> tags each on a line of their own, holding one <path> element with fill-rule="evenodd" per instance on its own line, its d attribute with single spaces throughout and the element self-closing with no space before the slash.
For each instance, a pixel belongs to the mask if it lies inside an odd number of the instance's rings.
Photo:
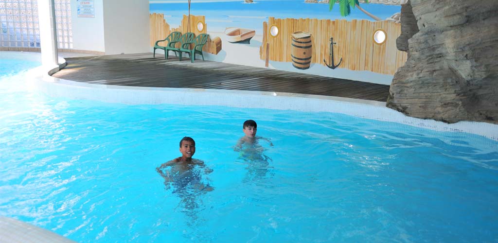
<svg viewBox="0 0 498 243">
<path fill-rule="evenodd" d="M 423 119 L 498 123 L 498 0 L 411 0 L 411 7 L 419 31 L 402 27 L 397 44 L 406 49 L 407 40 L 409 56 L 387 107 Z M 401 25 L 410 18 L 402 10 Z"/>
</svg>

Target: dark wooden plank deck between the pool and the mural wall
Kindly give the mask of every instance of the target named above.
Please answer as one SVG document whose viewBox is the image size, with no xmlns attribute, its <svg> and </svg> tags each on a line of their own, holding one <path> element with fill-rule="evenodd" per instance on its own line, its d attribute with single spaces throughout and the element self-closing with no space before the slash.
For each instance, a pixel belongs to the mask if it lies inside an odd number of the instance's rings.
<svg viewBox="0 0 498 243">
<path fill-rule="evenodd" d="M 72 81 L 140 87 L 287 92 L 383 101 L 389 86 L 152 53 L 66 58 L 52 76 Z M 290 65 L 290 64 L 289 64 Z M 331 72 L 333 72 L 331 70 Z"/>
</svg>

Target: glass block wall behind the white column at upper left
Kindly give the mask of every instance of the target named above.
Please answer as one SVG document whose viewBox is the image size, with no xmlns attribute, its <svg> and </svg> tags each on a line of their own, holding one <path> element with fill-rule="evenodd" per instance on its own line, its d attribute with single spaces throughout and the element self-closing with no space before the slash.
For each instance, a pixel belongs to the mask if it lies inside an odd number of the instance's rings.
<svg viewBox="0 0 498 243">
<path fill-rule="evenodd" d="M 72 49 L 70 0 L 55 0 L 57 42 Z M 37 0 L 0 0 L 0 47 L 40 47 Z"/>
</svg>

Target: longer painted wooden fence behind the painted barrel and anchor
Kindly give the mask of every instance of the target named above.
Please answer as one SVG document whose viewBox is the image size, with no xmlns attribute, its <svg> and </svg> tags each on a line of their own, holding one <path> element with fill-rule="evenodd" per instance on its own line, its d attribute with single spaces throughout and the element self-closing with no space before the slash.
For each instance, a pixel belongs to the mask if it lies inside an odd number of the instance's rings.
<svg viewBox="0 0 498 243">
<path fill-rule="evenodd" d="M 276 36 L 269 34 L 269 27 L 277 26 Z M 377 29 L 386 32 L 386 41 L 377 44 L 373 41 L 373 33 Z M 263 23 L 263 42 L 259 49 L 261 59 L 265 59 L 266 43 L 269 43 L 271 61 L 291 62 L 291 34 L 296 31 L 311 33 L 311 63 L 330 65 L 330 38 L 334 38 L 335 64 L 342 58 L 339 68 L 356 71 L 372 71 L 393 75 L 406 62 L 406 52 L 396 48 L 396 38 L 401 34 L 401 24 L 390 21 L 371 22 L 362 19 L 347 21 L 330 19 L 275 19 L 268 18 Z"/>
</svg>

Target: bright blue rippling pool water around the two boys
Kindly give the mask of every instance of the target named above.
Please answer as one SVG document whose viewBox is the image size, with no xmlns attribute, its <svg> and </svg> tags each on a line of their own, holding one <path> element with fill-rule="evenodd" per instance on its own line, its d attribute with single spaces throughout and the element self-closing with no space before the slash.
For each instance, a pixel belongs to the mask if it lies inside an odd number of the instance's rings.
<svg viewBox="0 0 498 243">
<path fill-rule="evenodd" d="M 22 73 L 0 77 L 0 215 L 78 242 L 498 239 L 497 141 L 332 113 L 63 100 L 26 86 Z M 273 146 L 234 151 L 249 118 Z M 180 156 L 186 135 L 206 168 L 173 168 L 167 183 L 156 167 Z"/>
</svg>

